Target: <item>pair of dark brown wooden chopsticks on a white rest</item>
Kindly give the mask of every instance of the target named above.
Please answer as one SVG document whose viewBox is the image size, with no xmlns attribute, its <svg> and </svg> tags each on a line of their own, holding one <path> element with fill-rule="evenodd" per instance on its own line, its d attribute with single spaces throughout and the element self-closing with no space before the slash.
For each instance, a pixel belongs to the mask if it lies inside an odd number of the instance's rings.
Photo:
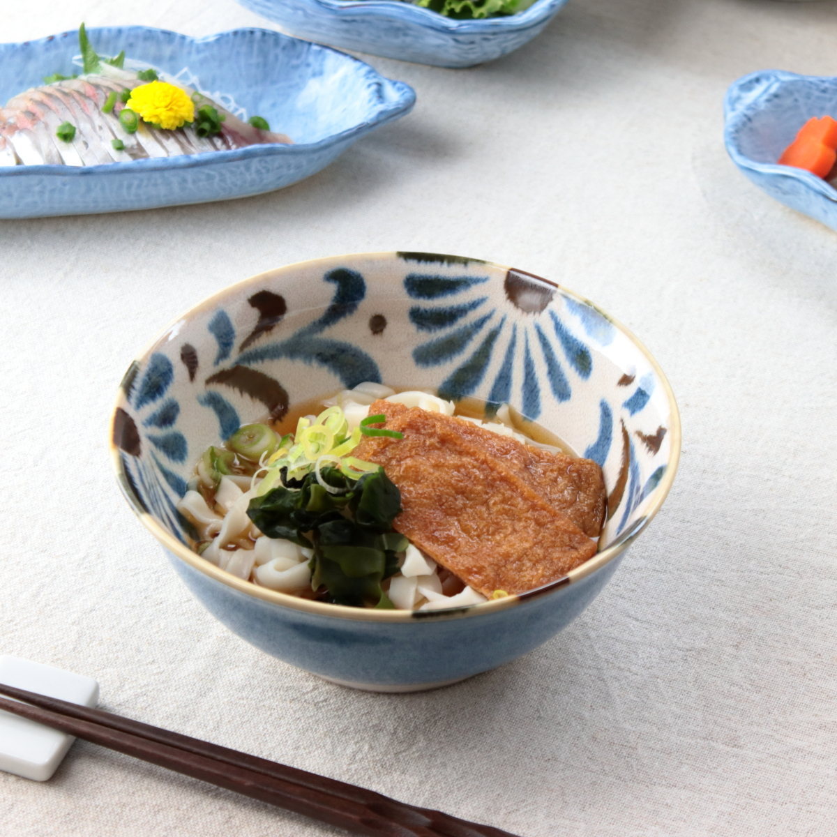
<svg viewBox="0 0 837 837">
<path fill-rule="evenodd" d="M 151 727 L 104 710 L 60 701 L 3 683 L 0 683 L 0 694 L 26 701 L 18 703 L 0 697 L 0 709 L 30 721 L 356 834 L 371 837 L 516 837 L 490 825 L 408 805 L 366 788 Z"/>
</svg>

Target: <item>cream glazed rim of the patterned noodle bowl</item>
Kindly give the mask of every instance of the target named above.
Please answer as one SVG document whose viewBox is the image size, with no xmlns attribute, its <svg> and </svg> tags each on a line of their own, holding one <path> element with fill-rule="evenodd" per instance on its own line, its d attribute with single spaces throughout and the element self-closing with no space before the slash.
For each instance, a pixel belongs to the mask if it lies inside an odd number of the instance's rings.
<svg viewBox="0 0 837 837">
<path fill-rule="evenodd" d="M 210 306 L 214 306 L 218 300 L 222 300 L 223 298 L 226 298 L 229 295 L 236 295 L 240 289 L 244 289 L 249 285 L 258 284 L 259 282 L 265 280 L 269 276 L 274 277 L 277 274 L 293 273 L 300 267 L 309 268 L 315 264 L 322 264 L 326 267 L 330 266 L 331 264 L 346 264 L 347 260 L 351 259 L 355 261 L 361 259 L 366 261 L 383 261 L 385 259 L 395 259 L 400 257 L 399 254 L 401 252 L 402 251 L 390 250 L 378 251 L 373 253 L 351 253 L 335 256 L 323 256 L 317 259 L 302 259 L 300 261 L 292 262 L 291 264 L 284 264 L 278 268 L 273 268 L 271 270 L 263 270 L 261 273 L 249 276 L 244 280 L 234 282 L 232 285 L 227 285 L 221 290 L 218 290 L 216 293 L 209 295 L 202 301 L 198 302 L 197 305 L 192 306 L 181 316 L 178 316 L 174 320 L 172 320 L 169 323 L 169 325 L 165 329 L 163 329 L 153 341 L 151 341 L 151 343 L 146 347 L 146 349 L 136 356 L 136 359 L 129 365 L 128 371 L 130 372 L 130 370 L 133 367 L 135 367 L 137 362 L 140 362 L 141 360 L 144 360 L 147 357 L 149 357 L 151 355 L 151 352 L 153 352 L 154 349 L 157 346 L 159 346 L 163 341 L 165 341 L 167 336 L 171 334 L 172 329 L 176 328 L 179 324 L 182 324 L 183 321 L 187 321 L 188 318 L 198 314 L 200 311 L 203 311 L 209 308 Z M 671 485 L 674 482 L 675 475 L 677 473 L 677 467 L 680 463 L 680 446 L 682 430 L 680 426 L 680 410 L 677 407 L 675 395 L 671 389 L 671 385 L 668 381 L 668 378 L 665 377 L 665 373 L 660 368 L 660 364 L 656 362 L 655 358 L 651 355 L 651 353 L 644 346 L 644 344 L 641 341 L 639 341 L 636 338 L 636 336 L 634 336 L 634 333 L 632 331 L 623 326 L 620 321 L 615 320 L 613 317 L 606 314 L 591 300 L 588 300 L 583 295 L 575 293 L 573 290 L 569 290 L 564 285 L 559 285 L 555 281 L 544 279 L 542 276 L 531 274 L 527 271 L 520 270 L 518 268 L 512 268 L 510 266 L 500 264 L 498 262 L 487 261 L 485 259 L 469 259 L 462 256 L 438 253 L 419 253 L 417 251 L 410 251 L 410 254 L 418 258 L 427 259 L 429 261 L 454 260 L 456 263 L 460 264 L 472 262 L 475 264 L 483 264 L 492 270 L 506 272 L 509 270 L 514 270 L 518 273 L 523 273 L 531 279 L 543 282 L 552 288 L 557 288 L 562 292 L 562 294 L 570 296 L 573 299 L 583 303 L 584 305 L 592 306 L 596 311 L 599 311 L 603 316 L 605 316 L 610 323 L 612 323 L 619 331 L 621 331 L 624 334 L 624 336 L 627 336 L 629 340 L 634 344 L 634 346 L 637 349 L 639 349 L 639 352 L 641 352 L 646 358 L 646 360 L 650 363 L 651 368 L 654 370 L 655 375 L 658 377 L 660 381 L 660 386 L 663 388 L 666 400 L 668 402 L 671 417 L 670 427 L 668 429 L 670 434 L 669 460 L 666 462 L 665 474 L 663 475 L 662 479 L 660 480 L 660 484 L 657 486 L 655 490 L 654 501 L 648 503 L 644 515 L 641 516 L 639 520 L 637 520 L 634 523 L 634 526 L 630 526 L 628 529 L 626 529 L 612 544 L 603 549 L 601 552 L 597 552 L 592 558 L 589 558 L 588 561 L 584 562 L 581 566 L 571 570 L 562 578 L 558 578 L 555 581 L 552 581 L 548 584 L 544 584 L 542 587 L 528 590 L 525 593 L 518 593 L 515 595 L 507 596 L 505 598 L 498 598 L 487 602 L 480 602 L 478 604 L 470 604 L 466 605 L 465 607 L 444 608 L 439 610 L 376 610 L 374 608 L 352 608 L 342 604 L 316 602 L 311 599 L 292 596 L 289 593 L 280 593 L 278 590 L 270 590 L 269 588 L 259 587 L 258 584 L 254 584 L 250 581 L 245 581 L 243 578 L 238 578 L 237 576 L 234 576 L 231 573 L 227 573 L 220 567 L 216 567 L 213 563 L 206 561 L 205 559 L 200 557 L 197 552 L 193 552 L 193 550 L 191 550 L 189 547 L 185 546 L 184 544 L 182 544 L 182 542 L 178 541 L 177 538 L 170 534 L 160 523 L 158 523 L 157 520 L 148 511 L 144 510 L 141 507 L 139 502 L 136 500 L 136 497 L 132 496 L 131 491 L 128 490 L 126 487 L 128 485 L 128 480 L 126 478 L 125 469 L 122 466 L 121 450 L 116 446 L 113 438 L 113 427 L 114 420 L 116 418 L 116 413 L 117 410 L 121 408 L 121 402 L 125 398 L 124 392 L 120 387 L 116 393 L 116 403 L 114 405 L 114 408 L 110 412 L 110 420 L 108 424 L 110 456 L 111 461 L 116 470 L 116 481 L 120 486 L 122 494 L 123 496 L 125 496 L 128 505 L 131 506 L 131 510 L 134 511 L 136 516 L 140 519 L 142 525 L 145 526 L 146 529 L 151 532 L 151 534 L 157 539 L 158 542 L 160 542 L 162 547 L 167 552 L 172 554 L 174 557 L 177 557 L 179 560 L 185 562 L 189 567 L 192 567 L 193 569 L 198 570 L 198 572 L 203 573 L 203 575 L 208 576 L 208 578 L 213 578 L 216 582 L 222 583 L 226 587 L 233 588 L 239 593 L 244 593 L 247 596 L 259 598 L 267 603 L 280 605 L 282 607 L 287 607 L 296 611 L 302 611 L 306 614 L 313 614 L 316 616 L 332 619 L 351 619 L 354 621 L 363 622 L 415 624 L 416 621 L 421 619 L 454 619 L 462 617 L 473 617 L 478 616 L 480 614 L 496 614 L 500 610 L 505 610 L 506 608 L 526 606 L 527 602 L 530 602 L 536 598 L 542 598 L 542 596 L 544 595 L 557 591 L 558 588 L 566 587 L 567 585 L 574 583 L 579 583 L 583 581 L 583 579 L 593 575 L 593 573 L 597 573 L 598 570 L 607 566 L 609 563 L 613 562 L 617 557 L 619 557 L 619 555 L 621 555 L 634 542 L 634 540 L 636 540 L 636 538 L 639 537 L 639 534 L 647 528 L 647 526 L 650 524 L 650 521 L 652 521 L 655 517 L 656 513 L 660 511 L 661 506 L 665 502 L 665 498 L 669 494 Z M 647 501 L 643 501 L 643 503 L 645 502 Z M 640 504 L 640 506 L 641 505 L 642 504 Z"/>
</svg>

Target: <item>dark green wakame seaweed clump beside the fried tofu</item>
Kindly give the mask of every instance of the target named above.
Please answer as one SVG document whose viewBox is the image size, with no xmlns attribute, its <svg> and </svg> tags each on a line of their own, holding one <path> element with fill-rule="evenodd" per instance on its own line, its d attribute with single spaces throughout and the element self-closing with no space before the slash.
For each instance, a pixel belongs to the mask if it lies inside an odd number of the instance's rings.
<svg viewBox="0 0 837 837">
<path fill-rule="evenodd" d="M 286 538 L 314 551 L 311 588 L 354 607 L 392 608 L 381 582 L 398 572 L 398 552 L 408 541 L 393 531 L 401 492 L 379 468 L 353 480 L 323 468 L 299 488 L 278 487 L 250 501 L 247 515 L 266 537 Z"/>
</svg>

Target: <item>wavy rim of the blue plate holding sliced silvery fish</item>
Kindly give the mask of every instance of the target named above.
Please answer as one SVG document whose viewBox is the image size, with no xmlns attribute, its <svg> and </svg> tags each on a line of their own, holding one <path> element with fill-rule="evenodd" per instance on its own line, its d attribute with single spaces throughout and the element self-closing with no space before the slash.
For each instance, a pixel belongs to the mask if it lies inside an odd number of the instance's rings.
<svg viewBox="0 0 837 837">
<path fill-rule="evenodd" d="M 47 44 L 58 38 L 66 38 L 69 35 L 75 35 L 77 32 L 78 30 L 69 29 L 67 32 L 49 35 L 46 38 L 33 41 L 18 41 L 17 43 L 0 44 L 0 56 L 2 56 L 4 49 L 22 47 L 25 44 L 31 44 L 34 46 Z M 352 55 L 343 53 L 339 49 L 333 49 L 332 47 L 328 47 L 323 44 L 314 44 L 311 41 L 302 41 L 301 39 L 293 38 L 291 35 L 275 32 L 273 29 L 263 29 L 251 26 L 238 29 L 228 29 L 224 32 L 205 35 L 203 38 L 192 38 L 189 35 L 174 32 L 171 29 L 161 29 L 151 26 L 103 26 L 88 29 L 88 33 L 92 39 L 95 39 L 96 33 L 100 32 L 157 33 L 165 36 L 173 36 L 176 39 L 182 39 L 193 44 L 210 44 L 214 41 L 220 41 L 223 39 L 234 39 L 240 37 L 244 33 L 264 33 L 264 35 L 276 39 L 278 43 L 283 41 L 298 41 L 301 44 L 306 44 L 309 49 L 312 49 L 315 52 L 318 50 L 326 50 L 340 55 L 341 58 L 346 59 L 348 63 L 357 64 L 364 74 L 367 74 L 379 84 L 391 85 L 392 89 L 398 92 L 398 100 L 391 104 L 382 106 L 377 111 L 374 119 L 359 122 L 356 126 L 352 126 L 351 128 L 347 128 L 345 131 L 340 131 L 336 134 L 329 134 L 316 142 L 293 143 L 291 145 L 262 143 L 254 146 L 246 146 L 244 148 L 228 149 L 226 151 L 203 151 L 200 154 L 182 154 L 177 157 L 151 157 L 146 160 L 100 163 L 97 166 L 56 166 L 53 164 L 44 164 L 39 166 L 0 166 L 0 177 L 12 177 L 18 175 L 29 177 L 44 174 L 62 177 L 90 177 L 92 175 L 102 174 L 105 172 L 108 175 L 112 174 L 114 177 L 118 177 L 121 174 L 129 174 L 138 171 L 158 172 L 170 168 L 195 168 L 212 165 L 214 162 L 234 162 L 238 160 L 246 160 L 250 157 L 294 157 L 306 155 L 310 154 L 312 151 L 318 151 L 321 148 L 335 145 L 337 142 L 349 140 L 352 136 L 362 134 L 372 127 L 383 125 L 386 122 L 407 113 L 415 104 L 415 91 L 412 87 L 410 87 L 410 85 L 405 84 L 403 81 L 385 78 L 370 64 L 367 64 Z"/>
</svg>

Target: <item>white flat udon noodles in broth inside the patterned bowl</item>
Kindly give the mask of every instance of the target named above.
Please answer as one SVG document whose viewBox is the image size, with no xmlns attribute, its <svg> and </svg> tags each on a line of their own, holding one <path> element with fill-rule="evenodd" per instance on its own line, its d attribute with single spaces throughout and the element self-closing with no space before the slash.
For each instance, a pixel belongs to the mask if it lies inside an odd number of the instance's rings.
<svg viewBox="0 0 837 837">
<path fill-rule="evenodd" d="M 345 419 L 342 427 L 344 430 L 347 427 L 347 434 L 354 434 L 354 438 L 357 439 L 358 431 L 363 429 L 363 424 L 370 419 L 370 405 L 375 402 L 381 403 L 378 399 L 406 408 L 419 408 L 440 416 L 453 416 L 455 412 L 454 403 L 432 393 L 396 392 L 377 383 L 362 383 L 353 389 L 343 390 L 325 398 L 321 408 L 331 408 L 333 415 L 341 414 Z M 321 413 L 321 416 L 326 414 Z M 493 434 L 559 454 L 564 453 L 556 445 L 543 444 L 522 434 L 520 429 L 516 428 L 510 410 L 505 405 L 497 411 L 494 421 L 485 422 L 474 416 L 461 414 L 460 418 Z M 297 426 L 309 427 L 317 419 L 316 414 L 311 413 L 302 417 Z M 383 416 L 377 416 L 377 419 L 383 419 Z M 263 425 L 248 425 L 243 431 L 260 427 Z M 277 434 L 280 434 L 280 430 L 277 429 Z M 243 431 L 239 431 L 239 434 Z M 386 430 L 366 432 L 369 435 L 401 435 Z M 250 430 L 250 433 L 255 437 L 260 431 Z M 278 439 L 279 435 L 276 438 Z M 312 585 L 314 550 L 305 545 L 305 539 L 299 543 L 285 537 L 266 537 L 248 516 L 251 502 L 259 496 L 263 497 L 270 485 L 287 485 L 292 488 L 293 485 L 299 485 L 299 482 L 295 483 L 290 479 L 291 471 L 288 468 L 282 470 L 281 474 L 270 470 L 270 458 L 264 453 L 258 457 L 250 453 L 250 458 L 235 454 L 234 449 L 231 449 L 231 445 L 234 448 L 234 439 L 235 437 L 230 439 L 229 444 L 223 447 L 208 449 L 198 462 L 190 488 L 178 505 L 182 514 L 193 522 L 197 530 L 197 551 L 204 559 L 226 572 L 261 587 L 305 598 L 334 600 L 327 597 L 321 586 Z M 300 439 L 299 433 L 296 439 Z M 254 439 L 250 438 L 244 439 L 247 444 L 253 441 Z M 290 435 L 282 438 L 285 449 L 293 441 Z M 337 441 L 341 442 L 343 439 Z M 334 450 L 338 451 L 340 447 L 338 444 Z M 240 449 L 239 445 L 239 451 Z M 258 451 L 258 445 L 253 449 Z M 321 460 L 316 461 L 316 479 L 321 480 L 320 469 L 323 465 L 335 465 L 339 461 L 336 456 L 322 456 Z M 359 462 L 355 467 L 363 465 L 370 464 Z M 326 482 L 321 480 L 321 484 L 326 486 L 327 491 L 332 491 Z M 383 590 L 382 601 L 386 599 L 388 607 L 407 610 L 462 607 L 485 602 L 489 597 L 500 598 L 506 595 L 501 589 L 478 592 L 449 569 L 439 566 L 427 552 L 419 549 L 413 542 L 408 542 L 406 538 L 401 539 L 397 552 L 388 552 L 388 555 L 393 556 L 398 562 L 397 568 L 392 567 L 394 572 L 387 573 L 388 577 L 383 578 L 380 585 L 380 589 Z"/>
</svg>

